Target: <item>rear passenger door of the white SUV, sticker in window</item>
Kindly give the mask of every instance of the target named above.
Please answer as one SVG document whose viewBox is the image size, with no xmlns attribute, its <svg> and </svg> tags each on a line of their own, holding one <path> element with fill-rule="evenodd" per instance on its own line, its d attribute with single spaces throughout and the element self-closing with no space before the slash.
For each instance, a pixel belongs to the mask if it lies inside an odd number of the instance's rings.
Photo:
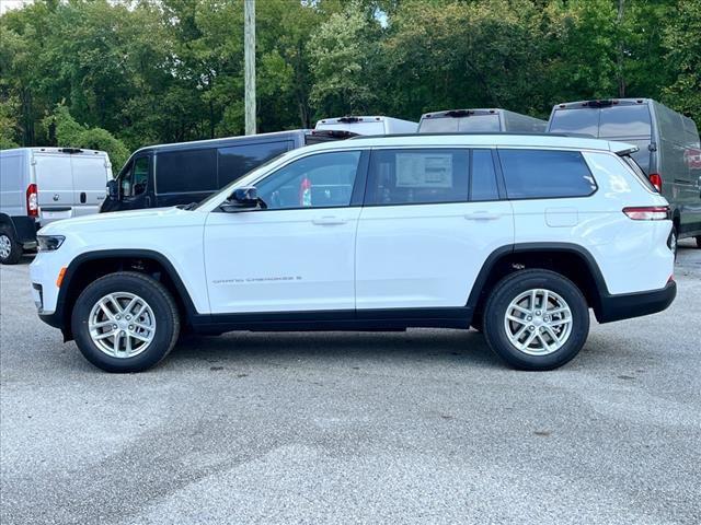
<svg viewBox="0 0 701 525">
<path fill-rule="evenodd" d="M 494 155 L 491 149 L 372 151 L 356 240 L 358 315 L 466 306 L 487 256 L 514 242 Z"/>
</svg>

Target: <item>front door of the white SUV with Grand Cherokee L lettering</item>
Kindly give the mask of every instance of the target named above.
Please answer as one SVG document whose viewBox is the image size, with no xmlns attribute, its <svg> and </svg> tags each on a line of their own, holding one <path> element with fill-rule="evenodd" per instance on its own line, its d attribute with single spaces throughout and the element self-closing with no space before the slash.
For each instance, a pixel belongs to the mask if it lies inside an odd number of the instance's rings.
<svg viewBox="0 0 701 525">
<path fill-rule="evenodd" d="M 267 209 L 209 214 L 205 268 L 212 314 L 353 312 L 360 156 L 344 151 L 297 159 L 256 184 Z"/>
</svg>

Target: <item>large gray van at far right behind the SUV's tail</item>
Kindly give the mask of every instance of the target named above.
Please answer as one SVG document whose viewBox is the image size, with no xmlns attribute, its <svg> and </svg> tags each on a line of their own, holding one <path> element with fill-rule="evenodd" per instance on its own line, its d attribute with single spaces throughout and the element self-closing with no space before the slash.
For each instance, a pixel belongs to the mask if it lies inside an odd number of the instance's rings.
<svg viewBox="0 0 701 525">
<path fill-rule="evenodd" d="M 690 118 L 652 98 L 613 98 L 558 104 L 548 131 L 586 133 L 637 145 L 633 159 L 669 201 L 677 240 L 696 237 L 701 247 L 701 145 Z"/>
</svg>

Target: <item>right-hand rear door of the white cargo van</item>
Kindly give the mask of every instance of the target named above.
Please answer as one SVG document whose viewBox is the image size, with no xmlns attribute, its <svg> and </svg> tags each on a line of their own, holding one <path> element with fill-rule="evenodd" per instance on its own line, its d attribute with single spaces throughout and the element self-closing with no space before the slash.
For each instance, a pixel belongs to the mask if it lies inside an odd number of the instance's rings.
<svg viewBox="0 0 701 525">
<path fill-rule="evenodd" d="M 73 170 L 73 217 L 97 213 L 105 200 L 111 167 L 103 154 L 71 155 Z"/>
</svg>

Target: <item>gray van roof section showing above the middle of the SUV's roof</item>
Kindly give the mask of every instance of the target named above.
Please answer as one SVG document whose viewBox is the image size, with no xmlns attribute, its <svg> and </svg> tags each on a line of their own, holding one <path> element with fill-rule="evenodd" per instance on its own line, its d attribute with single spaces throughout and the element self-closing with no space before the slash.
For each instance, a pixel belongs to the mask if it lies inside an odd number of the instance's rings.
<svg viewBox="0 0 701 525">
<path fill-rule="evenodd" d="M 420 133 L 506 132 L 543 133 L 548 122 L 498 107 L 425 113 Z"/>
</svg>

